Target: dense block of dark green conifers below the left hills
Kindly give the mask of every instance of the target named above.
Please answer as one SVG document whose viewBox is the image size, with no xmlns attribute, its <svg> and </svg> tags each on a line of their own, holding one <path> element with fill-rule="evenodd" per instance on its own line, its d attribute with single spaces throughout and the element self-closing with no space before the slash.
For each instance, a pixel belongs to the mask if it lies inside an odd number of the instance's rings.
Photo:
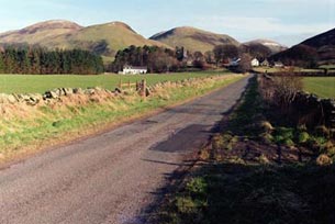
<svg viewBox="0 0 335 224">
<path fill-rule="evenodd" d="M 7 46 L 0 49 L 0 72 L 5 74 L 80 74 L 103 72 L 102 58 L 82 49 Z"/>
</svg>

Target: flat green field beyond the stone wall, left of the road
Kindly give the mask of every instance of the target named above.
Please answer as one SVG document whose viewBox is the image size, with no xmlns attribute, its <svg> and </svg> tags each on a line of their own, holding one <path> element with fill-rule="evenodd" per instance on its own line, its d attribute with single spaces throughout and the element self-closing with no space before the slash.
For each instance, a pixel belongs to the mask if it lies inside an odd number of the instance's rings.
<svg viewBox="0 0 335 224">
<path fill-rule="evenodd" d="M 201 78 L 213 75 L 225 74 L 223 71 L 182 72 L 169 75 L 100 75 L 100 76 L 76 76 L 76 75 L 0 75 L 0 92 L 2 93 L 44 93 L 46 90 L 68 87 L 88 88 L 101 87 L 114 89 L 120 80 L 122 82 L 135 82 L 146 79 L 148 85 L 161 81 L 177 81 L 187 78 Z"/>
</svg>

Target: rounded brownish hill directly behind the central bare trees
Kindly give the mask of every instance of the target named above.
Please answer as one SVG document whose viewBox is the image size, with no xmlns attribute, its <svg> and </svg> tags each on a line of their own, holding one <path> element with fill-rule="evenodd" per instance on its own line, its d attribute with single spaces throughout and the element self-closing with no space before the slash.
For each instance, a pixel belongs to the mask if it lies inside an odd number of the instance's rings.
<svg viewBox="0 0 335 224">
<path fill-rule="evenodd" d="M 174 48 L 176 46 L 183 46 L 188 51 L 200 51 L 202 53 L 212 51 L 214 46 L 221 44 L 239 45 L 236 40 L 228 35 L 215 34 L 189 26 L 176 27 L 167 32 L 155 34 L 150 40 L 161 42 Z"/>
</svg>

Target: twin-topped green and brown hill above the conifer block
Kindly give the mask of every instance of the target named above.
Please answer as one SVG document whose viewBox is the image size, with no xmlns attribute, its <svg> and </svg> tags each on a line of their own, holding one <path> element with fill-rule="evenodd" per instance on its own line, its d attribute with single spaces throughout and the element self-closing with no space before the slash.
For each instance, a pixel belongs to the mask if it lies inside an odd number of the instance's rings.
<svg viewBox="0 0 335 224">
<path fill-rule="evenodd" d="M 103 56 L 104 60 L 112 60 L 119 49 L 130 45 L 167 45 L 146 40 L 131 26 L 122 22 L 82 27 L 69 21 L 46 21 L 20 31 L 0 34 L 0 43 L 4 44 L 38 44 L 47 48 L 72 49 L 82 48 Z"/>
</svg>

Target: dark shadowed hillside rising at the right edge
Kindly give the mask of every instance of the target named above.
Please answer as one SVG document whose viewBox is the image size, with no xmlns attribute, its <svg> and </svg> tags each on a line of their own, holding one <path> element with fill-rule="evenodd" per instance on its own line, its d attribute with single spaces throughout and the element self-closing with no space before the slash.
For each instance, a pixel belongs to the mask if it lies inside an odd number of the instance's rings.
<svg viewBox="0 0 335 224">
<path fill-rule="evenodd" d="M 335 29 L 313 36 L 282 53 L 273 59 L 286 64 L 306 64 L 309 66 L 335 64 Z"/>
</svg>

